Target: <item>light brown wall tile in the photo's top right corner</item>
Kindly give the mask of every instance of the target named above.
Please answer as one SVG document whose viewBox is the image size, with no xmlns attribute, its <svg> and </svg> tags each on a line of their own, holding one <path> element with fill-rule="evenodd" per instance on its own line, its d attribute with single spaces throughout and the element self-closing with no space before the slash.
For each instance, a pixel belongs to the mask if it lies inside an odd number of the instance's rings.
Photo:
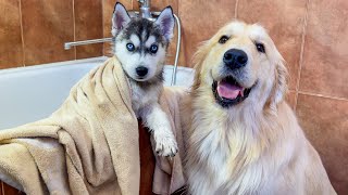
<svg viewBox="0 0 348 195">
<path fill-rule="evenodd" d="M 347 21 L 347 0 L 310 0 L 300 91 L 348 98 Z"/>
</svg>

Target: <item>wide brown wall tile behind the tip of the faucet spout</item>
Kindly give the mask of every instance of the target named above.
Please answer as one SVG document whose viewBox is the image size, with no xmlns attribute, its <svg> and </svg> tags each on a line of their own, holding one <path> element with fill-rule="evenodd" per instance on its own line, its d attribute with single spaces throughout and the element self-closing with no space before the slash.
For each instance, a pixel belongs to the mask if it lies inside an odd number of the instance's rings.
<svg viewBox="0 0 348 195">
<path fill-rule="evenodd" d="M 25 65 L 75 58 L 64 42 L 74 40 L 72 0 L 22 1 Z"/>
</svg>

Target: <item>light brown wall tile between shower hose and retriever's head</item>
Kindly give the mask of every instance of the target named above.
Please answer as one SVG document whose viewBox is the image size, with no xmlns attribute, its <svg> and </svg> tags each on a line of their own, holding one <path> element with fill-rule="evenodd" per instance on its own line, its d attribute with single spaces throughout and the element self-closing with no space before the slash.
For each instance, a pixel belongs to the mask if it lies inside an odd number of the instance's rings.
<svg viewBox="0 0 348 195">
<path fill-rule="evenodd" d="M 182 61 L 192 67 L 191 58 L 200 42 L 210 39 L 220 27 L 235 16 L 235 0 L 179 0 L 183 25 Z"/>
</svg>

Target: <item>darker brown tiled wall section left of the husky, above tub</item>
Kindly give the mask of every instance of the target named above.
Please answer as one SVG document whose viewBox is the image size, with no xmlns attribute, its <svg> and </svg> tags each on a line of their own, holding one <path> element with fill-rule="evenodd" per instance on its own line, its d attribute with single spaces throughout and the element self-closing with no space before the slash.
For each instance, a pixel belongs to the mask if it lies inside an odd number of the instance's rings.
<svg viewBox="0 0 348 195">
<path fill-rule="evenodd" d="M 0 0 L 0 68 L 102 55 L 102 44 L 64 50 L 64 42 L 102 37 L 101 0 Z"/>
</svg>

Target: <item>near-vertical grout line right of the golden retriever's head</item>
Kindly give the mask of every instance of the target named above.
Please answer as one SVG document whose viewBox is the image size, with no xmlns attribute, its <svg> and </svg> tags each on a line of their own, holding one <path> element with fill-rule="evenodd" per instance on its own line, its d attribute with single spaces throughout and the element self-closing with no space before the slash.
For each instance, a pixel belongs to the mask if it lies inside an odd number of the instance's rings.
<svg viewBox="0 0 348 195">
<path fill-rule="evenodd" d="M 297 73 L 297 82 L 296 82 L 296 93 L 295 93 L 295 112 L 298 103 L 298 93 L 299 93 L 299 87 L 300 87 L 300 79 L 301 79 L 301 72 L 302 72 L 302 65 L 303 65 L 303 54 L 304 54 L 304 42 L 306 42 L 306 35 L 307 35 L 307 22 L 308 22 L 308 12 L 309 12 L 309 4 L 310 0 L 306 1 L 306 13 L 303 18 L 303 26 L 302 26 L 302 42 L 301 42 L 301 50 L 300 50 L 300 58 L 299 58 L 299 68 Z"/>
</svg>

